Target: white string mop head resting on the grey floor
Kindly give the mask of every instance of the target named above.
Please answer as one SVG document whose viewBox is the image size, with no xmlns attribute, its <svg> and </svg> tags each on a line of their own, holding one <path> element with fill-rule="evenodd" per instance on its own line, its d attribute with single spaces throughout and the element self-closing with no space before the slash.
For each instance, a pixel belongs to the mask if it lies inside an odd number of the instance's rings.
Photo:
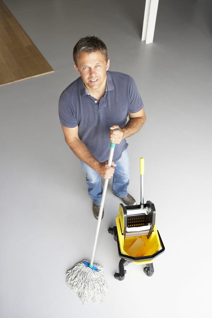
<svg viewBox="0 0 212 318">
<path fill-rule="evenodd" d="M 98 271 L 86 266 L 83 260 L 77 263 L 72 269 L 66 272 L 66 284 L 76 292 L 82 303 L 86 303 L 89 298 L 93 302 L 103 302 L 106 294 L 106 283 L 103 268 L 98 264 L 93 264 Z"/>
</svg>

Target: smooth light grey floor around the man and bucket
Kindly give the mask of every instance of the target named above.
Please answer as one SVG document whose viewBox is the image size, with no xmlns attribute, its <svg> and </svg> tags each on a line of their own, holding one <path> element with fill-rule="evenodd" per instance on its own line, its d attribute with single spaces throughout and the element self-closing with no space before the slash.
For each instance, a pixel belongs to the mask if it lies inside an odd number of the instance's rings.
<svg viewBox="0 0 212 318">
<path fill-rule="evenodd" d="M 2 318 L 211 317 L 212 4 L 159 1 L 154 43 L 141 42 L 145 1 L 4 0 L 54 73 L 0 87 Z M 120 200 L 109 183 L 95 262 L 108 291 L 82 305 L 65 272 L 92 252 L 96 221 L 78 159 L 58 120 L 61 91 L 78 74 L 72 48 L 97 34 L 110 70 L 137 82 L 147 122 L 128 138 L 129 192 L 154 202 L 166 247 L 154 275 L 130 264 L 113 278 L 119 256 L 107 233 Z"/>
</svg>

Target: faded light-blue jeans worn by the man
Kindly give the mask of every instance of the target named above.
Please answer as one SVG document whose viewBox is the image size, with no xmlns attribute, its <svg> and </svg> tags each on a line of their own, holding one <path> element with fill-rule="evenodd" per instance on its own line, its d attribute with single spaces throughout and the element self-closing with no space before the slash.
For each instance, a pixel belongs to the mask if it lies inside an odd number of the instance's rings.
<svg viewBox="0 0 212 318">
<path fill-rule="evenodd" d="M 88 194 L 95 204 L 100 205 L 103 188 L 101 186 L 101 177 L 99 174 L 81 161 L 82 169 L 86 174 L 86 183 Z M 127 187 L 130 177 L 130 163 L 127 149 L 123 151 L 121 158 L 115 162 L 116 167 L 113 174 L 113 193 L 118 197 L 127 196 Z"/>
</svg>

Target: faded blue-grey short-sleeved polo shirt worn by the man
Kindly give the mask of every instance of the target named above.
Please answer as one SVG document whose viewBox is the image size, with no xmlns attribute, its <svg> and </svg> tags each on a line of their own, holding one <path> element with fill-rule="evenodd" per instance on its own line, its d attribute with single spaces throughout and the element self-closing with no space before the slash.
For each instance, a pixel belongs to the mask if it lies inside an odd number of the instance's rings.
<svg viewBox="0 0 212 318">
<path fill-rule="evenodd" d="M 59 119 L 62 126 L 79 126 L 79 138 L 99 161 L 108 160 L 109 132 L 112 125 L 123 128 L 129 113 L 143 108 L 137 85 L 127 74 L 107 71 L 106 92 L 98 101 L 87 92 L 81 76 L 60 95 Z M 118 161 L 127 149 L 123 139 L 116 145 L 113 161 Z"/>
</svg>

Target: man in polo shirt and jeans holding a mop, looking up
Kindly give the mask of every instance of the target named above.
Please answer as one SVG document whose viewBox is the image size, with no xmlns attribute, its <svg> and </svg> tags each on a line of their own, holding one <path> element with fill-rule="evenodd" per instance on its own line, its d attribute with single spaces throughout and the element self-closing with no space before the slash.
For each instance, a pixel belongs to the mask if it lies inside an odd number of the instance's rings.
<svg viewBox="0 0 212 318">
<path fill-rule="evenodd" d="M 108 51 L 100 38 L 79 39 L 73 59 L 80 77 L 61 94 L 59 118 L 65 141 L 86 173 L 93 215 L 98 219 L 101 177 L 113 176 L 113 193 L 125 205 L 136 204 L 127 193 L 129 157 L 125 138 L 140 130 L 146 115 L 134 80 L 129 75 L 108 71 Z M 112 167 L 107 166 L 110 142 L 116 144 Z"/>
</svg>

